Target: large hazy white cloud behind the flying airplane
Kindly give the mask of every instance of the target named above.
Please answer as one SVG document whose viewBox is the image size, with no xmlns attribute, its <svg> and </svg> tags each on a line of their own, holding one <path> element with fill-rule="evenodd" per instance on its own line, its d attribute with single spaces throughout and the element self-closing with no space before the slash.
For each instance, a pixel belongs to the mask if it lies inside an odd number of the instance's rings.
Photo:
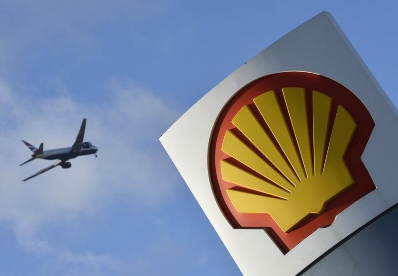
<svg viewBox="0 0 398 276">
<path fill-rule="evenodd" d="M 47 99 L 22 97 L 0 83 L 0 221 L 11 226 L 28 252 L 55 254 L 95 275 L 115 260 L 55 249 L 37 237 L 40 228 L 96 215 L 115 198 L 141 208 L 158 204 L 171 195 L 176 177 L 158 138 L 177 113 L 164 99 L 132 85 L 113 82 L 104 98 L 84 108 L 67 93 Z M 36 146 L 44 142 L 44 150 L 70 146 L 83 117 L 88 119 L 85 140 L 99 147 L 99 158 L 79 157 L 71 160 L 70 169 L 56 167 L 22 183 L 53 161 L 35 160 L 18 167 L 31 154 L 20 140 Z"/>
</svg>

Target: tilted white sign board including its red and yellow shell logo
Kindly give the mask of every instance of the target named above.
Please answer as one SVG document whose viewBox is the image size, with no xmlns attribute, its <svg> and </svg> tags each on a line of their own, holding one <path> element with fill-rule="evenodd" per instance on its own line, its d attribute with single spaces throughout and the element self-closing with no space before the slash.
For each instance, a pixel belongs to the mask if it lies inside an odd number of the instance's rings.
<svg viewBox="0 0 398 276">
<path fill-rule="evenodd" d="M 161 137 L 245 275 L 295 275 L 398 203 L 397 111 L 321 12 Z"/>
</svg>

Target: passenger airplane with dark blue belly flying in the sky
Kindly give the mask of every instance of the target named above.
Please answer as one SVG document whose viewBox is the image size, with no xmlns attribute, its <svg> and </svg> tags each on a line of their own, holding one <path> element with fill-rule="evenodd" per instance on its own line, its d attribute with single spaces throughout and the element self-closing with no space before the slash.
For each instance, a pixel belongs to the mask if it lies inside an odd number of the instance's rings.
<svg viewBox="0 0 398 276">
<path fill-rule="evenodd" d="M 72 158 L 76 158 L 80 155 L 94 154 L 97 157 L 96 153 L 98 151 L 98 148 L 90 142 L 83 142 L 85 130 L 86 130 L 86 118 L 83 119 L 82 125 L 80 127 L 80 131 L 78 133 L 78 137 L 76 138 L 75 143 L 73 144 L 72 147 L 69 147 L 69 148 L 61 148 L 61 149 L 43 151 L 43 143 L 41 143 L 40 147 L 38 149 L 36 149 L 34 146 L 29 144 L 28 142 L 22 140 L 22 142 L 33 152 L 33 154 L 32 154 L 31 159 L 29 159 L 26 162 L 23 162 L 19 166 L 22 166 L 23 164 L 26 164 L 32 160 L 35 160 L 36 158 L 47 159 L 47 160 L 58 159 L 57 162 L 55 162 L 53 165 L 51 165 L 47 168 L 44 168 L 43 170 L 38 171 L 33 176 L 28 177 L 22 181 L 27 181 L 28 179 L 34 178 L 35 176 L 45 173 L 48 170 L 51 170 L 52 168 L 55 168 L 57 166 L 61 166 L 62 169 L 68 169 L 72 166 L 72 164 L 70 162 L 66 162 L 66 161 L 69 159 L 72 159 Z"/>
</svg>

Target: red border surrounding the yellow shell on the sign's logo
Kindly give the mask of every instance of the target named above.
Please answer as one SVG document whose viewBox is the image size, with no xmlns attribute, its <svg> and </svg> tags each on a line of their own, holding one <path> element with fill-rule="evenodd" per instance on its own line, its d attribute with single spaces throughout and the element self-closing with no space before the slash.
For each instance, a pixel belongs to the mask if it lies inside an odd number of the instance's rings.
<svg viewBox="0 0 398 276">
<path fill-rule="evenodd" d="M 235 185 L 223 181 L 220 172 L 220 161 L 230 158 L 221 151 L 221 145 L 225 132 L 227 130 L 233 131 L 235 128 L 231 122 L 235 114 L 244 105 L 253 104 L 253 98 L 264 92 L 274 90 L 279 100 L 283 100 L 281 91 L 282 88 L 286 87 L 305 88 L 307 102 L 309 103 L 312 102 L 311 93 L 313 90 L 330 96 L 333 98 L 332 116 L 335 115 L 337 106 L 341 104 L 358 125 L 344 158 L 355 180 L 355 184 L 332 199 L 327 204 L 324 212 L 309 215 L 293 231 L 288 233 L 283 232 L 269 214 L 238 213 L 226 193 L 227 188 Z M 307 106 L 311 106 L 311 104 Z M 312 116 L 311 108 L 308 109 L 308 115 Z M 283 107 L 283 112 L 287 116 L 286 106 Z M 329 78 L 305 72 L 283 72 L 262 77 L 248 84 L 225 105 L 211 135 L 209 146 L 210 180 L 215 198 L 222 212 L 234 228 L 264 229 L 281 251 L 286 254 L 316 229 L 330 226 L 339 213 L 376 189 L 360 159 L 374 126 L 375 123 L 363 103 L 347 88 Z"/>
</svg>

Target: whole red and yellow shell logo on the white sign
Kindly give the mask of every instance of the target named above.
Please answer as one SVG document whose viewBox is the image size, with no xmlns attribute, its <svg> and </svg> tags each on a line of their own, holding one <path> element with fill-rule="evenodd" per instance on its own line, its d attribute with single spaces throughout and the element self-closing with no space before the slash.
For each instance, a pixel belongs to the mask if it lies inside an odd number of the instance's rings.
<svg viewBox="0 0 398 276">
<path fill-rule="evenodd" d="M 374 122 L 347 88 L 284 72 L 237 92 L 211 136 L 215 197 L 234 228 L 263 228 L 286 254 L 376 187 L 361 161 Z"/>
</svg>

